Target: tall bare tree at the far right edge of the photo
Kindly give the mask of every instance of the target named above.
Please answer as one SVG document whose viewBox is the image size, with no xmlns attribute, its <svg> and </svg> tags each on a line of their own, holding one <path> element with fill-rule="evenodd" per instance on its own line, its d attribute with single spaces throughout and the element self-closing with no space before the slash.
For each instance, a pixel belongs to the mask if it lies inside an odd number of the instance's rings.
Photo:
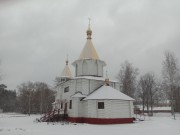
<svg viewBox="0 0 180 135">
<path fill-rule="evenodd" d="M 179 93 L 179 66 L 178 60 L 172 52 L 165 52 L 165 59 L 163 60 L 163 84 L 165 87 L 165 91 L 171 103 L 172 114 L 174 114 L 175 119 L 175 109 L 177 108 L 175 104 L 177 104 L 177 99 L 180 97 L 176 97 L 177 93 Z"/>
</svg>

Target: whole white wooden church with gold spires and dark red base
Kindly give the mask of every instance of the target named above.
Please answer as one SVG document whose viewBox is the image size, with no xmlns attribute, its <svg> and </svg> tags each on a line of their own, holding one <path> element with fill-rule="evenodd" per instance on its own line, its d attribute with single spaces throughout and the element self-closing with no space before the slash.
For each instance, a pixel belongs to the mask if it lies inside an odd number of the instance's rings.
<svg viewBox="0 0 180 135">
<path fill-rule="evenodd" d="M 76 123 L 119 124 L 133 122 L 134 99 L 120 92 L 118 81 L 104 77 L 105 61 L 101 60 L 92 43 L 92 30 L 86 31 L 87 41 L 71 74 L 68 60 L 56 86 L 53 110 L 66 114 Z"/>
</svg>

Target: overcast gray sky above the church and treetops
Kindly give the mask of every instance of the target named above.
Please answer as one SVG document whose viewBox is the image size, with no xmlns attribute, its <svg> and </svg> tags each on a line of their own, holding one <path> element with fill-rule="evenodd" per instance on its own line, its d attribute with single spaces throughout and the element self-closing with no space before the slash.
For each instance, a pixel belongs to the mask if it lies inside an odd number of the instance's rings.
<svg viewBox="0 0 180 135">
<path fill-rule="evenodd" d="M 79 57 L 89 17 L 110 77 L 125 60 L 160 76 L 166 50 L 180 60 L 179 7 L 179 0 L 0 0 L 1 83 L 53 86 L 67 54 L 70 63 Z"/>
</svg>

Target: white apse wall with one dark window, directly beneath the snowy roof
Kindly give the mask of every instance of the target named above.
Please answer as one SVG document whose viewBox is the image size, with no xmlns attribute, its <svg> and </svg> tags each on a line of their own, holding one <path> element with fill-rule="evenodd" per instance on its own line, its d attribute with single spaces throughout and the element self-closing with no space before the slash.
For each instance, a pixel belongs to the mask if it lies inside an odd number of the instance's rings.
<svg viewBox="0 0 180 135">
<path fill-rule="evenodd" d="M 104 102 L 104 109 L 98 109 L 98 102 Z M 88 100 L 88 118 L 131 118 L 132 101 Z"/>
</svg>

